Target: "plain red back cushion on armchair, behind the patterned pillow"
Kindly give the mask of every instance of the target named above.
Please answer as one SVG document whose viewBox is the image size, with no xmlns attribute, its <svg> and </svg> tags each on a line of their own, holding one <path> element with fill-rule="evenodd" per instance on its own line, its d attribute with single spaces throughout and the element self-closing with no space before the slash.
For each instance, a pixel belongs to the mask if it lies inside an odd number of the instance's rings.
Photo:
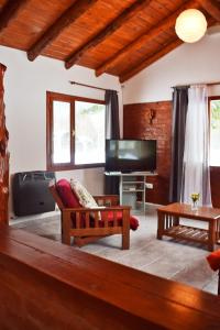
<svg viewBox="0 0 220 330">
<path fill-rule="evenodd" d="M 73 193 L 69 182 L 61 179 L 56 183 L 57 193 L 66 208 L 79 208 L 81 207 L 78 198 Z"/>
</svg>

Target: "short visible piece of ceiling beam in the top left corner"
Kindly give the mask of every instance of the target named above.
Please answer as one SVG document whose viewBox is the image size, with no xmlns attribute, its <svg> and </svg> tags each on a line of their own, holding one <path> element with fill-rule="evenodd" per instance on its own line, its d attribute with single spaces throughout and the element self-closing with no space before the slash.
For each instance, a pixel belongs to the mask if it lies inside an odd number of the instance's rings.
<svg viewBox="0 0 220 330">
<path fill-rule="evenodd" d="M 8 0 L 7 4 L 0 11 L 0 32 L 6 29 L 10 21 L 15 19 L 19 11 L 25 6 L 29 0 Z"/>
</svg>

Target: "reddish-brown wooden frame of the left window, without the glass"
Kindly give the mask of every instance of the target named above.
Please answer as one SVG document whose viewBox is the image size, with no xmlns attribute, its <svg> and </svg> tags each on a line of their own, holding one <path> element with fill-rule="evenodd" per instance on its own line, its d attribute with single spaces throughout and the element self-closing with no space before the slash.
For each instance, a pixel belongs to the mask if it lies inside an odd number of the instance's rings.
<svg viewBox="0 0 220 330">
<path fill-rule="evenodd" d="M 94 163 L 94 164 L 80 164 L 76 165 L 74 163 L 75 153 L 75 136 L 70 139 L 70 163 L 59 163 L 53 164 L 53 101 L 64 101 L 70 103 L 70 132 L 75 130 L 75 102 L 90 102 L 97 105 L 105 105 L 105 101 L 70 96 L 66 94 L 59 94 L 54 91 L 46 91 L 46 168 L 47 170 L 69 170 L 69 169 L 80 169 L 80 168 L 95 168 L 105 167 L 105 163 Z"/>
</svg>

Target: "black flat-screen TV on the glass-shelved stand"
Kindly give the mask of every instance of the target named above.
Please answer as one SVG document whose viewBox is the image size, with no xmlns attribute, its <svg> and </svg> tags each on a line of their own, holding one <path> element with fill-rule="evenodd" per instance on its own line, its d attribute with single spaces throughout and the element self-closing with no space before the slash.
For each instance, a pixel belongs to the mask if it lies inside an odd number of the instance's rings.
<svg viewBox="0 0 220 330">
<path fill-rule="evenodd" d="M 107 140 L 107 172 L 154 172 L 156 140 Z"/>
</svg>

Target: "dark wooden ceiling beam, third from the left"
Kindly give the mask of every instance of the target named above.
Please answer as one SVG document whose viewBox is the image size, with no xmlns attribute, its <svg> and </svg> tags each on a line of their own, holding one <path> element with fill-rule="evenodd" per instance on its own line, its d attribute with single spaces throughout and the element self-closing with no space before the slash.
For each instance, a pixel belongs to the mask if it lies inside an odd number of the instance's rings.
<svg viewBox="0 0 220 330">
<path fill-rule="evenodd" d="M 98 44 L 103 42 L 107 37 L 109 37 L 118 29 L 120 29 L 128 20 L 132 19 L 145 7 L 147 7 L 150 2 L 151 0 L 138 0 L 131 7 L 127 8 L 118 18 L 116 18 L 101 32 L 99 32 L 97 35 L 91 37 L 79 50 L 70 54 L 65 62 L 65 67 L 70 68 L 73 65 L 77 64 L 86 52 L 95 48 Z"/>
</svg>

